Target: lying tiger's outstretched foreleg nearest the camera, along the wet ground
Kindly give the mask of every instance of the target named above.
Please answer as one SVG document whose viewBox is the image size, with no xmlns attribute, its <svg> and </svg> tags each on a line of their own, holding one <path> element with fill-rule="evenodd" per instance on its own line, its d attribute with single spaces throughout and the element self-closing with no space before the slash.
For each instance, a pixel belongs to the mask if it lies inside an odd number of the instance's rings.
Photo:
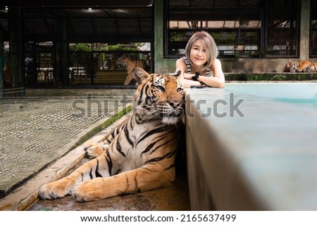
<svg viewBox="0 0 317 225">
<path fill-rule="evenodd" d="M 116 176 L 83 181 L 75 186 L 72 195 L 79 202 L 101 200 L 171 186 L 174 180 L 175 167 L 149 164 Z"/>
</svg>

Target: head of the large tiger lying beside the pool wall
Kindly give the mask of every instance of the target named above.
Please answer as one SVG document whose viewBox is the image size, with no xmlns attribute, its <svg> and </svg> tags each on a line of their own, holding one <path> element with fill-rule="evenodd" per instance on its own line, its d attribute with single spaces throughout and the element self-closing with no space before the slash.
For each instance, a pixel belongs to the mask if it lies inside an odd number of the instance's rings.
<svg viewBox="0 0 317 225">
<path fill-rule="evenodd" d="M 137 84 L 133 109 L 139 122 L 161 120 L 176 124 L 184 113 L 184 89 L 176 77 L 165 74 L 149 75 L 142 68 L 134 68 Z"/>
</svg>

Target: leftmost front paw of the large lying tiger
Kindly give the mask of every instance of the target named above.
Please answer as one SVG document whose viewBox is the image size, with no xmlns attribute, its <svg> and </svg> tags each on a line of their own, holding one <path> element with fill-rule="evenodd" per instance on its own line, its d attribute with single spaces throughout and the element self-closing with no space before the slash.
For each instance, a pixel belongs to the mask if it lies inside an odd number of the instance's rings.
<svg viewBox="0 0 317 225">
<path fill-rule="evenodd" d="M 70 191 L 68 190 L 68 185 L 65 182 L 55 181 L 49 184 L 44 184 L 39 188 L 39 197 L 42 199 L 56 199 L 62 198 L 68 195 Z"/>
</svg>

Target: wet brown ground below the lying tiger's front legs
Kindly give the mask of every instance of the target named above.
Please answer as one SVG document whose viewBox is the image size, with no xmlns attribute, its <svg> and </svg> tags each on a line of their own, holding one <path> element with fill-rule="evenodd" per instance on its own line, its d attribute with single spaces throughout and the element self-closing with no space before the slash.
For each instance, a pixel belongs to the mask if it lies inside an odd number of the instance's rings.
<svg viewBox="0 0 317 225">
<path fill-rule="evenodd" d="M 82 163 L 87 161 L 82 160 Z M 70 195 L 56 200 L 38 200 L 30 211 L 189 211 L 185 158 L 180 159 L 173 186 L 154 191 L 123 195 L 105 200 L 78 203 Z"/>
</svg>

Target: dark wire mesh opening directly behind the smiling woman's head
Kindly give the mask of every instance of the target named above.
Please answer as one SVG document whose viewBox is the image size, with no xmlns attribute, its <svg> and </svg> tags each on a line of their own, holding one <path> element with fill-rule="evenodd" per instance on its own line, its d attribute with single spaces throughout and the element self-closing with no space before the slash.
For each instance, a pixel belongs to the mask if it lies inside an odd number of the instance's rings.
<svg viewBox="0 0 317 225">
<path fill-rule="evenodd" d="M 184 54 L 194 32 L 215 39 L 220 58 L 299 56 L 299 2 L 168 1 L 166 56 Z"/>
</svg>

